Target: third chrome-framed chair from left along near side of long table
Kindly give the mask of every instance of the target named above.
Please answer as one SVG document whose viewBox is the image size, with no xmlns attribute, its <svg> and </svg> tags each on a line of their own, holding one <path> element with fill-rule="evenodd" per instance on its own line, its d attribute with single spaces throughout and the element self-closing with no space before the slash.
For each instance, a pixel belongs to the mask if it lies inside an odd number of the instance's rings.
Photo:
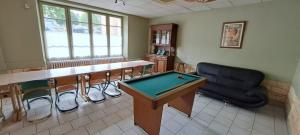
<svg viewBox="0 0 300 135">
<path fill-rule="evenodd" d="M 91 88 L 94 88 L 98 91 L 101 92 L 102 94 L 102 98 L 101 99 L 92 99 L 91 96 L 90 100 L 94 103 L 97 102 L 102 102 L 106 99 L 105 94 L 104 94 L 104 90 L 108 87 L 109 85 L 109 78 L 108 78 L 108 72 L 97 72 L 97 73 L 90 73 L 88 75 L 88 91 L 87 91 L 87 95 L 89 96 L 90 91 L 92 90 Z M 102 89 L 102 90 L 101 90 Z"/>
</svg>

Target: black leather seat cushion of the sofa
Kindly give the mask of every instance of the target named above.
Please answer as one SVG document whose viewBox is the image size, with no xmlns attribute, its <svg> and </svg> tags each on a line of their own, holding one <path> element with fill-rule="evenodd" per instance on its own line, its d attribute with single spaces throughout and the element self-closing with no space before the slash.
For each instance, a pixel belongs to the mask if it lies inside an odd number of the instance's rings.
<svg viewBox="0 0 300 135">
<path fill-rule="evenodd" d="M 224 85 L 212 82 L 208 82 L 207 85 L 202 88 L 202 90 L 208 90 L 214 93 L 218 93 L 219 95 L 222 95 L 223 97 L 226 97 L 228 99 L 233 98 L 235 100 L 248 103 L 256 103 L 261 101 L 261 99 L 258 97 L 247 96 L 246 93 L 242 90 L 226 87 Z"/>
</svg>

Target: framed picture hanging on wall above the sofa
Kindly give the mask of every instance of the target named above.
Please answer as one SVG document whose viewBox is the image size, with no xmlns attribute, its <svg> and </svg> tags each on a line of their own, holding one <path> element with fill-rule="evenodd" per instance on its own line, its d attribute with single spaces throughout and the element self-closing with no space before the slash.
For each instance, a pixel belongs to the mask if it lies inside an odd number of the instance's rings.
<svg viewBox="0 0 300 135">
<path fill-rule="evenodd" d="M 242 48 L 246 21 L 223 23 L 221 48 Z"/>
</svg>

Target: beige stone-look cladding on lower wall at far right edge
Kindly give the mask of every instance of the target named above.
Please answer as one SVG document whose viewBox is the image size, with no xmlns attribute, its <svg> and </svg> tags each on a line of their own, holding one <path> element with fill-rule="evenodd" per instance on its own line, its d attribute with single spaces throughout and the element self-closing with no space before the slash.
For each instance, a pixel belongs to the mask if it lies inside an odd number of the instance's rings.
<svg viewBox="0 0 300 135">
<path fill-rule="evenodd" d="M 290 88 L 286 102 L 287 126 L 290 135 L 300 135 L 300 99 L 293 87 Z"/>
</svg>

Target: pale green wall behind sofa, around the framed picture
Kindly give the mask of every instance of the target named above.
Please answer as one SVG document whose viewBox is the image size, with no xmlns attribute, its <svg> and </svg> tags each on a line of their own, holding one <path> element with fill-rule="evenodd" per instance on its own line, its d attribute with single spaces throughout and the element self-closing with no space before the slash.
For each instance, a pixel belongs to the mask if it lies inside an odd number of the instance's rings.
<svg viewBox="0 0 300 135">
<path fill-rule="evenodd" d="M 268 79 L 291 82 L 299 58 L 300 1 L 224 8 L 152 19 L 179 24 L 177 57 L 196 65 L 207 61 L 263 71 Z M 248 21 L 242 49 L 219 48 L 222 23 Z"/>
</svg>

